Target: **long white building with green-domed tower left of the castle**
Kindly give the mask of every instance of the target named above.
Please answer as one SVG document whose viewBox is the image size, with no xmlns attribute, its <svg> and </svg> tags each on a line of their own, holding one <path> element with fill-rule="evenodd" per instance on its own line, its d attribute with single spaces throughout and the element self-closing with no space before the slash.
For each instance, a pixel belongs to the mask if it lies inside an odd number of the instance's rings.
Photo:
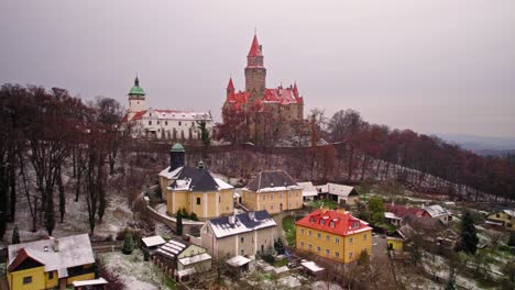
<svg viewBox="0 0 515 290">
<path fill-rule="evenodd" d="M 206 129 L 209 133 L 212 131 L 213 123 L 210 112 L 149 108 L 145 91 L 140 87 L 138 77 L 129 91 L 129 113 L 124 121 L 131 123 L 131 133 L 134 137 L 180 141 L 200 140 L 199 123 L 206 122 Z"/>
</svg>

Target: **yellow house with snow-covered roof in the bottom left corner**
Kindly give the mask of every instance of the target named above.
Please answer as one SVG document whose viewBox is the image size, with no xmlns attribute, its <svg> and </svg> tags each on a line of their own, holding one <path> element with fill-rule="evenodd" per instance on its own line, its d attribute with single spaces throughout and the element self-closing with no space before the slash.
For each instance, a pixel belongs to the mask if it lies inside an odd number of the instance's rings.
<svg viewBox="0 0 515 290">
<path fill-rule="evenodd" d="M 63 288 L 95 279 L 95 257 L 87 234 L 42 239 L 8 247 L 11 290 Z"/>
</svg>

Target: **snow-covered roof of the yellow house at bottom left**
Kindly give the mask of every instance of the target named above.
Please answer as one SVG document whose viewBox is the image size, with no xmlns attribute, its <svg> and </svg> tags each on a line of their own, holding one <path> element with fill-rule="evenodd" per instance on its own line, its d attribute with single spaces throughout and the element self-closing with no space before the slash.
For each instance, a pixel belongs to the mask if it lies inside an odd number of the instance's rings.
<svg viewBox="0 0 515 290">
<path fill-rule="evenodd" d="M 57 252 L 54 250 L 55 242 L 58 243 Z M 45 265 L 45 272 L 57 270 L 59 278 L 68 276 L 67 268 L 95 263 L 88 234 L 9 245 L 9 265 L 13 263 L 22 248 Z"/>
</svg>

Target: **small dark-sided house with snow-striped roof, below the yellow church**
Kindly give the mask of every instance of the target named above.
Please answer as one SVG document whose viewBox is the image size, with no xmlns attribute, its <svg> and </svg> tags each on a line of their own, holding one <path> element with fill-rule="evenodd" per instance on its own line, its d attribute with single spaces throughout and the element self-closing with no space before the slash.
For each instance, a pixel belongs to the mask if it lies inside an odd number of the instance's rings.
<svg viewBox="0 0 515 290">
<path fill-rule="evenodd" d="M 154 252 L 152 259 L 178 280 L 211 268 L 211 256 L 206 248 L 184 241 L 169 239 Z"/>
</svg>

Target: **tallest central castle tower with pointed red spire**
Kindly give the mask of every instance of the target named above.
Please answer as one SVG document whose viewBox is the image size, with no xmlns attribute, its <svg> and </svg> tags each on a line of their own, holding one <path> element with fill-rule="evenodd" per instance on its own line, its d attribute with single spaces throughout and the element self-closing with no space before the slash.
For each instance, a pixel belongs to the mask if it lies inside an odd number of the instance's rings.
<svg viewBox="0 0 515 290">
<path fill-rule="evenodd" d="M 266 68 L 263 65 L 262 48 L 258 42 L 258 36 L 254 34 L 251 49 L 249 55 L 246 55 L 245 67 L 245 90 L 252 93 L 252 98 L 263 96 L 266 88 Z"/>
</svg>

